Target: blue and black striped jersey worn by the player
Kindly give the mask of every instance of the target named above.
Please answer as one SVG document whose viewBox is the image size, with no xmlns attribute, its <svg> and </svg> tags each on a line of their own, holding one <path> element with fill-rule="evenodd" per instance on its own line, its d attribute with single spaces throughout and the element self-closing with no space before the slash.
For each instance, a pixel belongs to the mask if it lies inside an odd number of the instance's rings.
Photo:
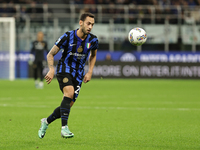
<svg viewBox="0 0 200 150">
<path fill-rule="evenodd" d="M 77 36 L 77 30 L 66 32 L 55 43 L 63 49 L 56 73 L 70 73 L 77 81 L 82 82 L 87 57 L 91 50 L 98 49 L 98 39 L 95 35 L 88 34 L 85 40 L 81 40 Z"/>
</svg>

